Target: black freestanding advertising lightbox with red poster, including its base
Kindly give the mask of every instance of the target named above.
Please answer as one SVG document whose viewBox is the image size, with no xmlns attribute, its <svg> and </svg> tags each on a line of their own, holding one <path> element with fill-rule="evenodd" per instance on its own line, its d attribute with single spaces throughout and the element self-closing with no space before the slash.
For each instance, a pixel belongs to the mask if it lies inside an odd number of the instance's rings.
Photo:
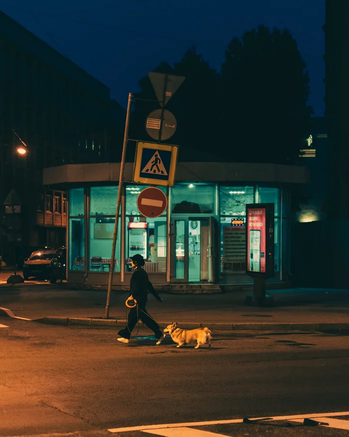
<svg viewBox="0 0 349 437">
<path fill-rule="evenodd" d="M 253 299 L 245 305 L 265 306 L 266 279 L 274 276 L 273 203 L 246 205 L 246 273 L 253 278 Z"/>
</svg>

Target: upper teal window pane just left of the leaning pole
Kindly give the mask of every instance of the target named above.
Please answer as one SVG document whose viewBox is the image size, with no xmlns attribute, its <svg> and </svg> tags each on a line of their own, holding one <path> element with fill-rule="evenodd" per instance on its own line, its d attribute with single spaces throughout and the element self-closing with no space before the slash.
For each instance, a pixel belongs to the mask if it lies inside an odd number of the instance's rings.
<svg viewBox="0 0 349 437">
<path fill-rule="evenodd" d="M 118 188 L 91 187 L 90 215 L 115 215 Z"/>
</svg>

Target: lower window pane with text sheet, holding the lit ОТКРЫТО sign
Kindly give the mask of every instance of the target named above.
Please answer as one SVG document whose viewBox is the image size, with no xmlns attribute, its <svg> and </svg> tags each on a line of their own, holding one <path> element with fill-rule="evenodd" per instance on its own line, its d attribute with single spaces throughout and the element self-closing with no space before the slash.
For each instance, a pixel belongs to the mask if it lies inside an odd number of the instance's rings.
<svg viewBox="0 0 349 437">
<path fill-rule="evenodd" d="M 242 220 L 246 224 L 246 219 Z M 224 273 L 245 272 L 246 227 L 231 226 L 231 217 L 220 218 L 220 271 Z"/>
</svg>

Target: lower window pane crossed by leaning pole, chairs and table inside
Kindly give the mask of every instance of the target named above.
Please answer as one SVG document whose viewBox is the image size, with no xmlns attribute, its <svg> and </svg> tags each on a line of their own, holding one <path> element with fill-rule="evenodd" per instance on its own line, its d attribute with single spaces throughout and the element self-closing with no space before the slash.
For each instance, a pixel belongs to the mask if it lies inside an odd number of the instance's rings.
<svg viewBox="0 0 349 437">
<path fill-rule="evenodd" d="M 115 219 L 95 217 L 90 219 L 90 262 L 89 271 L 109 272 L 112 257 Z M 120 226 L 116 239 L 114 271 L 120 272 Z"/>
</svg>

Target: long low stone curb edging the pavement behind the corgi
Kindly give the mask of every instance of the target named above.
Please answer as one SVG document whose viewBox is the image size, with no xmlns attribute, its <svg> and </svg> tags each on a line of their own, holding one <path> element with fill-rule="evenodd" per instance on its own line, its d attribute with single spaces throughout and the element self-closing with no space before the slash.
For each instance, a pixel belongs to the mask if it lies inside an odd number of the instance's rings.
<svg viewBox="0 0 349 437">
<path fill-rule="evenodd" d="M 79 326 L 117 326 L 126 327 L 126 320 L 93 319 L 80 317 L 42 317 L 33 322 L 49 325 L 79 325 Z M 172 322 L 158 321 L 159 325 L 167 326 Z M 142 323 L 143 325 L 143 323 Z M 202 327 L 202 323 L 180 323 L 185 329 Z M 331 331 L 349 329 L 349 323 L 205 323 L 212 331 Z M 143 325 L 144 326 L 144 325 Z"/>
</svg>

